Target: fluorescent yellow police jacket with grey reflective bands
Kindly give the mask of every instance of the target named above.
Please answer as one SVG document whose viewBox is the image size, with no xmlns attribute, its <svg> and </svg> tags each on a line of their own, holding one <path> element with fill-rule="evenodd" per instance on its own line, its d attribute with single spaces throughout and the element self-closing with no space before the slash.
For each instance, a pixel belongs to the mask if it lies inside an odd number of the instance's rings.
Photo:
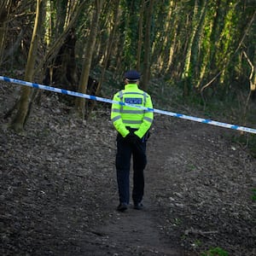
<svg viewBox="0 0 256 256">
<path fill-rule="evenodd" d="M 151 97 L 147 92 L 138 89 L 137 84 L 126 84 L 125 90 L 120 90 L 113 96 L 113 101 L 153 108 Z M 137 129 L 134 133 L 142 138 L 152 125 L 153 119 L 153 111 L 112 104 L 111 120 L 122 137 L 127 136 L 130 132 L 127 127 L 131 127 Z"/>
</svg>

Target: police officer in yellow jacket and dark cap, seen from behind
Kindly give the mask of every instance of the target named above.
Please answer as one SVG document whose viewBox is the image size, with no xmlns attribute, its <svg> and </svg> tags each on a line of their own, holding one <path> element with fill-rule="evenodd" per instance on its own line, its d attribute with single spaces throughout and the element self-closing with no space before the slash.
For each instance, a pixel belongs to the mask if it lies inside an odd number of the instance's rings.
<svg viewBox="0 0 256 256">
<path fill-rule="evenodd" d="M 113 96 L 114 102 L 125 102 L 141 107 L 153 108 L 151 97 L 138 88 L 140 73 L 130 70 L 125 73 L 125 90 Z M 119 206 L 117 210 L 124 212 L 130 201 L 130 166 L 133 157 L 133 189 L 134 208 L 143 208 L 144 168 L 147 164 L 146 141 L 148 130 L 152 125 L 154 113 L 150 109 L 132 108 L 113 103 L 111 120 L 118 131 L 116 172 L 119 189 Z"/>
</svg>

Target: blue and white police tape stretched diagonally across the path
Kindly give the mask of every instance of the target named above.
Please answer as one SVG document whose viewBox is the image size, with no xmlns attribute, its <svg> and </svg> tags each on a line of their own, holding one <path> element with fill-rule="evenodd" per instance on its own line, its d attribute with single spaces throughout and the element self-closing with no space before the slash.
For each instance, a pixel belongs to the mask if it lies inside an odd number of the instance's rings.
<svg viewBox="0 0 256 256">
<path fill-rule="evenodd" d="M 201 118 L 185 115 L 183 113 L 173 113 L 173 112 L 160 110 L 160 109 L 156 109 L 156 108 L 145 108 L 145 107 L 140 107 L 140 106 L 136 106 L 136 105 L 125 103 L 125 102 L 114 102 L 110 99 L 106 99 L 106 98 L 102 98 L 102 97 L 98 97 L 98 96 L 90 96 L 90 95 L 83 94 L 83 93 L 76 92 L 76 91 L 72 91 L 72 90 L 64 90 L 64 89 L 60 89 L 60 88 L 55 88 L 55 87 L 43 85 L 43 84 L 35 84 L 35 83 L 26 82 L 26 81 L 23 81 L 23 80 L 10 79 L 10 78 L 3 77 L 3 76 L 0 76 L 0 80 L 5 81 L 5 82 L 9 82 L 9 83 L 12 83 L 12 84 L 26 85 L 26 86 L 37 88 L 37 89 L 54 91 L 54 92 L 57 92 L 57 93 L 66 94 L 66 95 L 70 95 L 70 96 L 77 96 L 77 97 L 81 97 L 81 98 L 85 98 L 85 99 L 89 99 L 89 100 L 93 100 L 93 101 L 97 101 L 97 102 L 107 102 L 107 103 L 110 103 L 110 104 L 116 103 L 116 104 L 120 104 L 120 105 L 123 105 L 123 106 L 130 106 L 130 107 L 133 107 L 133 108 L 140 108 L 140 109 L 152 111 L 154 113 L 161 113 L 161 114 L 169 115 L 169 116 L 172 116 L 172 117 L 177 117 L 179 119 L 187 119 L 187 120 L 190 120 L 190 121 L 195 121 L 195 122 L 199 122 L 199 123 L 203 123 L 203 124 L 207 124 L 207 125 L 215 125 L 215 126 L 220 126 L 220 127 L 224 127 L 224 128 L 237 130 L 237 131 L 245 131 L 245 132 L 256 134 L 256 129 L 249 128 L 249 127 L 244 127 L 244 126 L 240 126 L 240 125 L 230 125 L 230 124 L 214 121 L 214 120 L 211 120 L 211 119 L 201 119 Z"/>
</svg>

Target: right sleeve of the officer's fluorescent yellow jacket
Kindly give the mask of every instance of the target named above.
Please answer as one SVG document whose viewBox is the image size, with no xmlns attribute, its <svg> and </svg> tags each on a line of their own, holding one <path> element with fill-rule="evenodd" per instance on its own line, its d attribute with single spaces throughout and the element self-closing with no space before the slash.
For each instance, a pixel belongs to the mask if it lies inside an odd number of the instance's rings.
<svg viewBox="0 0 256 256">
<path fill-rule="evenodd" d="M 134 132 L 137 135 L 137 137 L 140 137 L 140 138 L 142 138 L 146 134 L 146 132 L 149 130 L 154 119 L 153 104 L 151 101 L 151 97 L 148 94 L 147 94 L 145 107 L 149 109 L 145 110 L 145 113 L 143 116 L 143 123 L 142 125 L 140 125 L 139 129 Z"/>
</svg>

